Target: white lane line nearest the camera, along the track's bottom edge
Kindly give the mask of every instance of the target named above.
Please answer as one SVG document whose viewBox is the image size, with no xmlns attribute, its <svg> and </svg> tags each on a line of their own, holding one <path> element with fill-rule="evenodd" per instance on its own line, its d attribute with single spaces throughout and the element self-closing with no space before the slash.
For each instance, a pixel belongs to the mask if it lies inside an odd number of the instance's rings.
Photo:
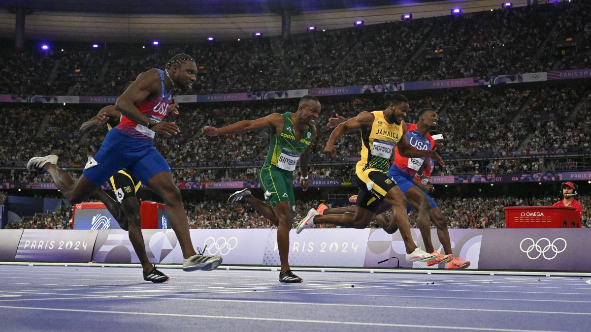
<svg viewBox="0 0 591 332">
<path fill-rule="evenodd" d="M 542 332 L 540 330 L 511 330 L 508 328 L 482 328 L 465 326 L 436 326 L 436 325 L 414 325 L 414 324 L 391 324 L 391 323 L 365 323 L 356 321 L 329 321 L 329 320 L 300 320 L 293 318 L 267 318 L 267 317 L 241 317 L 241 316 L 217 316 L 217 315 L 195 315 L 195 314 L 165 314 L 165 313 L 139 313 L 134 311 L 106 311 L 106 310 L 83 310 L 83 309 L 64 309 L 64 308 L 36 308 L 36 307 L 12 307 L 0 305 L 0 308 L 16 310 L 43 310 L 43 311 L 64 311 L 69 313 L 94 313 L 94 314 L 115 314 L 115 315 L 147 315 L 147 316 L 165 316 L 165 317 L 189 317 L 189 318 L 210 318 L 214 320 L 251 320 L 251 321 L 279 321 L 283 323 L 311 323 L 311 324 L 335 324 L 335 325 L 353 325 L 353 326 L 383 326 L 383 327 L 407 327 L 407 328 L 438 328 L 449 330 L 482 330 L 482 331 L 526 331 Z M 543 331 L 550 332 L 550 331 Z"/>
</svg>

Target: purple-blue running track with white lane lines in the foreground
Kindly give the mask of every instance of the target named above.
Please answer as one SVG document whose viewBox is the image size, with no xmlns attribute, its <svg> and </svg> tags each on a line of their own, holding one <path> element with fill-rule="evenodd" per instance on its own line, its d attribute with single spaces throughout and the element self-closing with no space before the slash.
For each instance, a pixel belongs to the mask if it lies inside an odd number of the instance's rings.
<svg viewBox="0 0 591 332">
<path fill-rule="evenodd" d="M 0 329 L 60 331 L 589 331 L 591 280 L 573 276 L 0 265 Z M 352 287 L 354 286 L 354 287 Z"/>
</svg>

